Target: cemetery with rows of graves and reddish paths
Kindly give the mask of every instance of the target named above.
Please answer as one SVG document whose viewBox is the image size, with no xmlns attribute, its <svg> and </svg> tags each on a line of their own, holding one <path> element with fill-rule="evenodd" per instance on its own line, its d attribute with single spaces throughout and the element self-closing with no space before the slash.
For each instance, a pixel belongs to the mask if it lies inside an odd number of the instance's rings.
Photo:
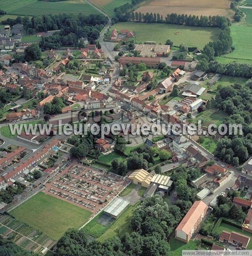
<svg viewBox="0 0 252 256">
<path fill-rule="evenodd" d="M 47 194 L 96 213 L 125 185 L 121 176 L 74 162 L 45 187 Z"/>
</svg>

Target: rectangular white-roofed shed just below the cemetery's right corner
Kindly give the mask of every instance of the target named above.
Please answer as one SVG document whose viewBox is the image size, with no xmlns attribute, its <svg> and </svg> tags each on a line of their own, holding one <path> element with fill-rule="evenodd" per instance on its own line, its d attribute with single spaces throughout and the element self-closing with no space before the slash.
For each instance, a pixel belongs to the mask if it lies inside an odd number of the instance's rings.
<svg viewBox="0 0 252 256">
<path fill-rule="evenodd" d="M 117 197 L 104 209 L 104 213 L 117 219 L 128 206 L 129 201 Z"/>
</svg>

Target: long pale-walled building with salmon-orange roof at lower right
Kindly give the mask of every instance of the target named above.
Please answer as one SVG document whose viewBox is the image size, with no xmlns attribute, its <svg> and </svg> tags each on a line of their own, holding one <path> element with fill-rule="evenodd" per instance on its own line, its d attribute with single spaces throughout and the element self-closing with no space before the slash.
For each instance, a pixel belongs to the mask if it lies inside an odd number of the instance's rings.
<svg viewBox="0 0 252 256">
<path fill-rule="evenodd" d="M 188 243 L 207 213 L 207 205 L 196 201 L 175 230 L 175 238 Z"/>
</svg>

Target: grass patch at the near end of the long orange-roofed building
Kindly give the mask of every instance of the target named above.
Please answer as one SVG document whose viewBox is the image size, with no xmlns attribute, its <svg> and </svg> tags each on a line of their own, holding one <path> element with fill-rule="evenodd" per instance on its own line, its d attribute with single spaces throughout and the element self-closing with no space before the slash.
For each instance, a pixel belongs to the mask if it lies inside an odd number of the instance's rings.
<svg viewBox="0 0 252 256">
<path fill-rule="evenodd" d="M 174 238 L 175 233 L 171 235 L 171 238 L 169 240 L 170 246 L 171 246 L 171 256 L 181 256 L 182 255 L 182 250 L 194 250 L 196 249 L 200 241 L 197 239 L 190 240 L 189 243 L 184 243 L 182 241 L 179 241 Z"/>
</svg>

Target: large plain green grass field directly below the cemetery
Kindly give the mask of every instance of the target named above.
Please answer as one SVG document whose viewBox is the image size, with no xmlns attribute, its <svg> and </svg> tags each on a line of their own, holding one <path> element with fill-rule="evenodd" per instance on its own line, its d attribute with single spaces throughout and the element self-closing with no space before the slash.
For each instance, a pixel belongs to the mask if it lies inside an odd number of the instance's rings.
<svg viewBox="0 0 252 256">
<path fill-rule="evenodd" d="M 58 240 L 68 228 L 81 227 L 91 212 L 39 192 L 10 212 L 16 219 Z"/>
</svg>

